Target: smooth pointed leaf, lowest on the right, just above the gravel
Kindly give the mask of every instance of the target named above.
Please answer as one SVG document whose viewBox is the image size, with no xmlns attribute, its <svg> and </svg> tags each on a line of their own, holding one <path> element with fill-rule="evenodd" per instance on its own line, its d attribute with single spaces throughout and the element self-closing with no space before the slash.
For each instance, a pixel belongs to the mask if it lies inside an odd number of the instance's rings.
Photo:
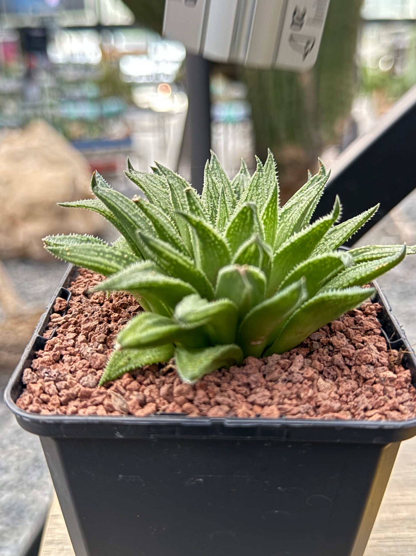
<svg viewBox="0 0 416 556">
<path fill-rule="evenodd" d="M 374 291 L 376 290 L 373 287 L 369 289 L 352 287 L 346 290 L 327 291 L 312 297 L 285 322 L 277 339 L 264 355 L 285 353 L 292 349 L 321 326 L 337 319 L 345 311 L 357 307 L 371 297 Z"/>
</svg>

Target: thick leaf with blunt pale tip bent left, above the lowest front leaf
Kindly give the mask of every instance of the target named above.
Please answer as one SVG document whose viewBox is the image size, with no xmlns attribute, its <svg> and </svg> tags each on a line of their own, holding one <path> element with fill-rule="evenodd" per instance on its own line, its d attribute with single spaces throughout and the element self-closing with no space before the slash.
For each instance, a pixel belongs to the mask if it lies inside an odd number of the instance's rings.
<svg viewBox="0 0 416 556">
<path fill-rule="evenodd" d="M 174 319 L 181 326 L 203 326 L 211 345 L 235 342 L 237 307 L 230 299 L 207 301 L 188 295 L 176 305 Z"/>
</svg>

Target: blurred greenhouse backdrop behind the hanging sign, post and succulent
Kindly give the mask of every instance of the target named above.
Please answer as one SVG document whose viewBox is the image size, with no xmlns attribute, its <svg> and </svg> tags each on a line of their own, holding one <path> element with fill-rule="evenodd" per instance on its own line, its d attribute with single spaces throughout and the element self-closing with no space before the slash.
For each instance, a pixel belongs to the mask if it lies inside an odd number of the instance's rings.
<svg viewBox="0 0 416 556">
<path fill-rule="evenodd" d="M 163 0 L 130 3 L 135 13 L 121 0 L 0 4 L 3 135 L 43 118 L 109 175 L 126 155 L 186 173 L 185 48 L 153 30 Z M 230 174 L 271 147 L 290 192 L 326 149 L 366 133 L 416 82 L 414 11 L 411 0 L 332 0 L 306 73 L 211 64 L 211 144 Z"/>
</svg>

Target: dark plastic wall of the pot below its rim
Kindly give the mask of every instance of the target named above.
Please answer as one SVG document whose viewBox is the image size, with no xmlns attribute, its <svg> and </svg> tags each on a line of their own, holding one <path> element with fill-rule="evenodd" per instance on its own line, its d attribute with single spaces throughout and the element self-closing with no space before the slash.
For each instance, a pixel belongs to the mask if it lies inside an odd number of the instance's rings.
<svg viewBox="0 0 416 556">
<path fill-rule="evenodd" d="M 399 443 L 42 445 L 77 556 L 362 556 Z"/>
</svg>

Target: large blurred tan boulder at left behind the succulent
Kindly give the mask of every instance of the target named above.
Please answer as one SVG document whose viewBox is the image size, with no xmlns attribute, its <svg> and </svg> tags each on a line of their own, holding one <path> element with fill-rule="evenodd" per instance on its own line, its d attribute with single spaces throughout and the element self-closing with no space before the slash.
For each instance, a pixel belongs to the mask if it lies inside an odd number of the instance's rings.
<svg viewBox="0 0 416 556">
<path fill-rule="evenodd" d="M 48 259 L 42 237 L 98 234 L 104 220 L 59 201 L 90 198 L 83 155 L 43 120 L 10 131 L 0 143 L 0 258 Z"/>
</svg>

